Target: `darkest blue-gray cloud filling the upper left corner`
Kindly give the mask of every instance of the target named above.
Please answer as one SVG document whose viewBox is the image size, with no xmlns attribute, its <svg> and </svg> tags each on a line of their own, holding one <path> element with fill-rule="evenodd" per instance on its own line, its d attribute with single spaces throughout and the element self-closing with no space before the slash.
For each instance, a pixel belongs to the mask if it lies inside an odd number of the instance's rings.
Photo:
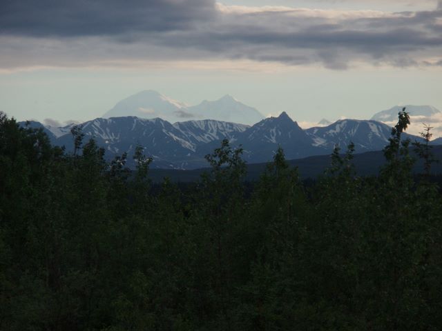
<svg viewBox="0 0 442 331">
<path fill-rule="evenodd" d="M 0 31 L 39 37 L 168 31 L 189 28 L 213 10 L 207 0 L 2 0 Z"/>
</svg>

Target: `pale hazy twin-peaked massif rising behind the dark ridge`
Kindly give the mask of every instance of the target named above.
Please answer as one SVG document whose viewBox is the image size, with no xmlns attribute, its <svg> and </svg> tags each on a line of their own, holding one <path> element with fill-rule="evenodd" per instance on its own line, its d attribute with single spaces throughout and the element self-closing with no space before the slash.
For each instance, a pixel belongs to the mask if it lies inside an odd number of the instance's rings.
<svg viewBox="0 0 442 331">
<path fill-rule="evenodd" d="M 226 95 L 216 101 L 202 101 L 197 106 L 186 106 L 153 90 L 146 90 L 119 101 L 104 114 L 104 118 L 135 116 L 142 119 L 160 117 L 171 123 L 186 119 L 215 119 L 253 124 L 264 117 L 258 110 Z"/>
</svg>

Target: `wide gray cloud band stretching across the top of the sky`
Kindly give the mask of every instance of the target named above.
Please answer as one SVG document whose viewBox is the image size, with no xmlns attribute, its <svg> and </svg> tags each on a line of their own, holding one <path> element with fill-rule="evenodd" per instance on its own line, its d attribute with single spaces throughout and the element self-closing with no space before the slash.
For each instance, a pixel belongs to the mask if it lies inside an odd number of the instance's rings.
<svg viewBox="0 0 442 331">
<path fill-rule="evenodd" d="M 254 61 L 440 66 L 442 10 L 314 10 L 212 0 L 0 1 L 0 70 Z M 435 3 L 434 3 L 435 4 Z M 438 8 L 440 9 L 439 1 Z"/>
</svg>

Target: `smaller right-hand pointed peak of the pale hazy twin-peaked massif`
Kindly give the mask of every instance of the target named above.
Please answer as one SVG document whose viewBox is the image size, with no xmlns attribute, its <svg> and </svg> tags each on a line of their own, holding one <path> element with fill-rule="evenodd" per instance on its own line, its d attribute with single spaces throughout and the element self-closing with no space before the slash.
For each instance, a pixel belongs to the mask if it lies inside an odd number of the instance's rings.
<svg viewBox="0 0 442 331">
<path fill-rule="evenodd" d="M 264 118 L 258 110 L 244 105 L 244 103 L 230 95 L 225 95 L 216 101 L 204 100 L 197 106 L 187 108 L 187 111 L 193 114 L 195 118 L 216 119 L 218 121 L 250 125 Z"/>
</svg>

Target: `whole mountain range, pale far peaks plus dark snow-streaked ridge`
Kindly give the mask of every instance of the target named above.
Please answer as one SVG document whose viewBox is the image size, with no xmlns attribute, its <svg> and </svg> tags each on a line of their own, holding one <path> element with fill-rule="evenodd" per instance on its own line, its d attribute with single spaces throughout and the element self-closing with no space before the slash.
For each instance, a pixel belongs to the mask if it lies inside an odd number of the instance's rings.
<svg viewBox="0 0 442 331">
<path fill-rule="evenodd" d="M 416 119 L 441 115 L 432 106 L 405 107 Z M 286 112 L 264 118 L 255 108 L 229 95 L 187 106 L 145 90 L 119 101 L 104 117 L 86 121 L 81 127 L 85 140 L 94 138 L 108 159 L 126 152 L 128 165 L 133 166 L 132 155 L 140 145 L 153 157 L 153 168 L 189 170 L 206 166 L 204 156 L 218 148 L 222 139 L 228 139 L 234 148 L 242 147 L 242 157 L 248 163 L 271 161 L 278 147 L 287 159 L 331 154 L 334 146 L 345 150 L 350 142 L 356 153 L 382 150 L 400 110 L 402 107 L 395 106 L 377 112 L 371 120 L 340 119 L 332 123 L 323 119 L 316 127 L 304 130 Z M 30 121 L 28 125 L 42 128 L 54 145 L 73 150 L 70 129 L 74 124 L 55 127 Z M 406 133 L 403 137 L 421 139 Z M 442 144 L 442 138 L 432 143 Z"/>
</svg>

